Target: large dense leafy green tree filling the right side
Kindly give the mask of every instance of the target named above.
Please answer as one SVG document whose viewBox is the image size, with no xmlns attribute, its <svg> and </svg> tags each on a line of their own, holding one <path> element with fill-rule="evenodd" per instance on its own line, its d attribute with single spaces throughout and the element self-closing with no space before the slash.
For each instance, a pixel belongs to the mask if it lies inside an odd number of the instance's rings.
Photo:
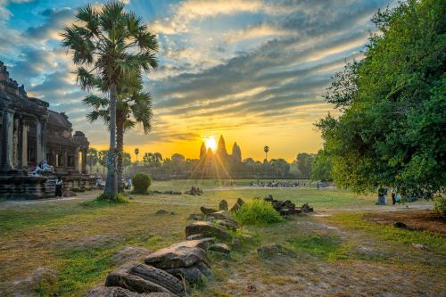
<svg viewBox="0 0 446 297">
<path fill-rule="evenodd" d="M 365 58 L 347 64 L 317 123 L 338 186 L 431 198 L 446 182 L 446 2 L 409 0 L 376 12 Z"/>
</svg>

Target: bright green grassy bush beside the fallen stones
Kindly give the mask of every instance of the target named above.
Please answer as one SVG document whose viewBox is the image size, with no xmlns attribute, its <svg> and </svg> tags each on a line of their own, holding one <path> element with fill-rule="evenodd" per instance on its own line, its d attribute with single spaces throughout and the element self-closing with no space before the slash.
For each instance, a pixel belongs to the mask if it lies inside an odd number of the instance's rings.
<svg viewBox="0 0 446 297">
<path fill-rule="evenodd" d="M 234 218 L 242 225 L 268 225 L 284 221 L 270 202 L 260 199 L 244 203 L 235 211 Z"/>
</svg>

